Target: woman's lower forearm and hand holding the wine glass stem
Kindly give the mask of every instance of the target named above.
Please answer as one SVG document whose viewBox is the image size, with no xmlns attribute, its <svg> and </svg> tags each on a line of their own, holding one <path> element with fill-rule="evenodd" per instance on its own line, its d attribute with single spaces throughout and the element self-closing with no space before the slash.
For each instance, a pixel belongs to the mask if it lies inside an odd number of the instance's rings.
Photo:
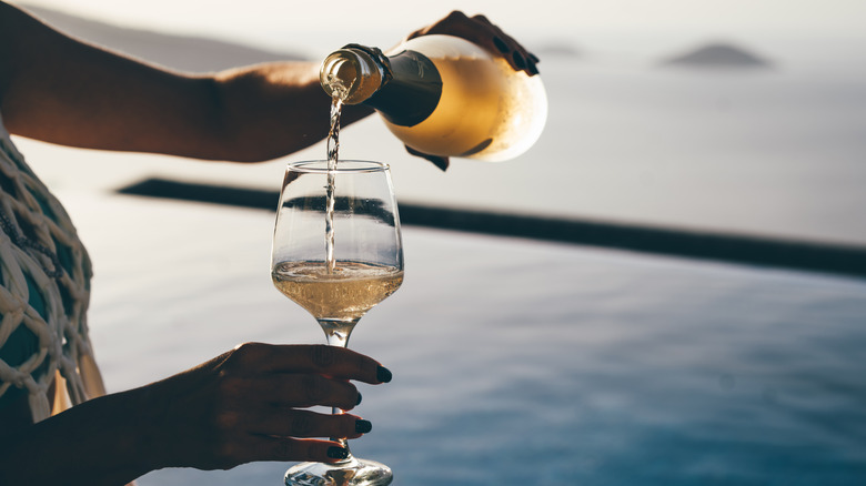
<svg viewBox="0 0 866 486">
<path fill-rule="evenodd" d="M 385 383 L 391 372 L 340 347 L 243 344 L 170 378 L 0 436 L 0 485 L 111 486 L 171 466 L 335 462 L 345 449 L 312 437 L 354 438 L 370 423 L 305 408 L 351 409 L 361 395 L 350 379 Z"/>
</svg>

